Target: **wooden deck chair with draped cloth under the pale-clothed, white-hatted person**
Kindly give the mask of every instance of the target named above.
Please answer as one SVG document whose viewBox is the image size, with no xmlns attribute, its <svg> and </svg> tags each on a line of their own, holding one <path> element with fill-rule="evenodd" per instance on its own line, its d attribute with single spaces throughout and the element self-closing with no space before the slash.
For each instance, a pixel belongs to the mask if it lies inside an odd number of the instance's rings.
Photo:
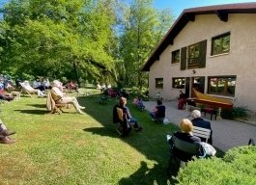
<svg viewBox="0 0 256 185">
<path fill-rule="evenodd" d="M 54 113 L 58 113 L 60 114 L 62 111 L 61 108 L 65 107 L 67 104 L 58 104 L 56 103 L 57 100 L 54 100 L 54 92 L 52 91 L 48 91 L 47 92 L 47 98 L 46 98 L 46 108 L 47 110 L 54 114 Z M 55 97 L 55 99 L 58 98 L 57 96 Z"/>
</svg>

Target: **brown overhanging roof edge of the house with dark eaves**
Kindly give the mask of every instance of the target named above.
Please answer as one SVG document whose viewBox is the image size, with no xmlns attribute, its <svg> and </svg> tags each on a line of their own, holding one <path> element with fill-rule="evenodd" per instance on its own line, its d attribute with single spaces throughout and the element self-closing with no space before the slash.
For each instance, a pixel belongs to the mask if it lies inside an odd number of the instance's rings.
<svg viewBox="0 0 256 185">
<path fill-rule="evenodd" d="M 226 4 L 215 5 L 208 7 L 197 7 L 191 9 L 185 9 L 183 13 L 177 18 L 170 30 L 159 42 L 151 56 L 147 60 L 146 64 L 141 68 L 142 71 L 149 71 L 156 60 L 159 60 L 159 55 L 169 45 L 173 44 L 173 40 L 183 30 L 188 21 L 194 21 L 196 14 L 213 14 L 215 13 L 222 21 L 228 21 L 229 13 L 256 13 L 256 3 L 238 3 L 238 4 Z"/>
</svg>

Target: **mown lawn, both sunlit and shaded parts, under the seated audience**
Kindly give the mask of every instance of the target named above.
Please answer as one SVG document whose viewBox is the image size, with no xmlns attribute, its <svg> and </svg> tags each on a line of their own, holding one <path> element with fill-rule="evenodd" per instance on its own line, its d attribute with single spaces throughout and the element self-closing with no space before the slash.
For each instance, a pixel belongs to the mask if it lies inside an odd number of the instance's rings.
<svg viewBox="0 0 256 185">
<path fill-rule="evenodd" d="M 128 107 L 143 127 L 120 138 L 112 123 L 116 99 L 77 97 L 85 115 L 73 108 L 48 114 L 45 98 L 21 97 L 1 105 L 1 119 L 15 130 L 14 145 L 0 145 L 1 184 L 172 184 L 166 174 L 166 134 L 178 128 L 153 122 L 146 111 Z"/>
</svg>

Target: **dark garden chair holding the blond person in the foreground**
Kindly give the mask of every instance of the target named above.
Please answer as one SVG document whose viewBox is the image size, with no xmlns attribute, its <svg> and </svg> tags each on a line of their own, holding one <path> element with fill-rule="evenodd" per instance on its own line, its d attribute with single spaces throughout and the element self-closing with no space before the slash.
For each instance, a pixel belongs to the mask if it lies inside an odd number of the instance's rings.
<svg viewBox="0 0 256 185">
<path fill-rule="evenodd" d="M 176 175 L 181 166 L 186 165 L 193 157 L 204 158 L 205 153 L 203 148 L 198 143 L 185 142 L 174 135 L 167 135 L 167 141 L 170 144 L 170 159 L 168 165 L 168 173 Z M 170 140 L 172 142 L 170 142 Z"/>
</svg>

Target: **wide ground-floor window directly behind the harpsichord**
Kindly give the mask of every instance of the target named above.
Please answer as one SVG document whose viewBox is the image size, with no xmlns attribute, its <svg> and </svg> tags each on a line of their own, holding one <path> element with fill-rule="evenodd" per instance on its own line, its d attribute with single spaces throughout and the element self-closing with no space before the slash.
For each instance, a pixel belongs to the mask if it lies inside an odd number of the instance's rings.
<svg viewBox="0 0 256 185">
<path fill-rule="evenodd" d="M 209 77 L 208 92 L 219 95 L 234 96 L 236 90 L 236 76 Z"/>
</svg>

